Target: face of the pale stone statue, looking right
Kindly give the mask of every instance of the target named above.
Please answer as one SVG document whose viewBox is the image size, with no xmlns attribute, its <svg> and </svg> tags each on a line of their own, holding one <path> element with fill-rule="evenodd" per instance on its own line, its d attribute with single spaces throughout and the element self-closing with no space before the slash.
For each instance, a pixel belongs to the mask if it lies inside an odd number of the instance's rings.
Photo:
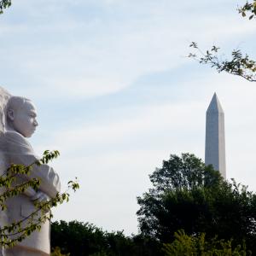
<svg viewBox="0 0 256 256">
<path fill-rule="evenodd" d="M 37 112 L 34 104 L 26 101 L 13 113 L 13 128 L 24 137 L 31 137 L 38 126 Z"/>
</svg>

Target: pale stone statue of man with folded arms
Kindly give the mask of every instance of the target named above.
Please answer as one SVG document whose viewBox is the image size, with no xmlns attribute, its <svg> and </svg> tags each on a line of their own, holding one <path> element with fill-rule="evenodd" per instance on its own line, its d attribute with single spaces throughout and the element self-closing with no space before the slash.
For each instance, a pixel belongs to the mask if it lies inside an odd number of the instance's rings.
<svg viewBox="0 0 256 256">
<path fill-rule="evenodd" d="M 1 172 L 11 164 L 29 166 L 38 156 L 27 141 L 38 126 L 37 111 L 34 104 L 20 96 L 11 96 L 0 88 L 0 166 Z M 48 165 L 33 166 L 29 176 L 18 177 L 24 182 L 36 177 L 41 183 L 38 192 L 29 188 L 7 201 L 7 223 L 28 217 L 36 210 L 35 201 L 46 201 L 60 192 L 60 178 Z M 3 216 L 3 219 L 6 218 Z M 26 225 L 26 223 L 25 223 Z M 40 231 L 34 231 L 31 236 L 3 251 L 6 256 L 38 256 L 49 255 L 49 221 L 42 224 Z M 0 254 L 1 255 L 1 254 Z"/>
</svg>

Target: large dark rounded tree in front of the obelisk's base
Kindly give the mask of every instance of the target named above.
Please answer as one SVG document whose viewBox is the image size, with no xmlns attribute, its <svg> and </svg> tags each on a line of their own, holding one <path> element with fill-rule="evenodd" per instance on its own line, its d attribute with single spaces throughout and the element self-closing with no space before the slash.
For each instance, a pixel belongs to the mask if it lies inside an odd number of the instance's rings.
<svg viewBox="0 0 256 256">
<path fill-rule="evenodd" d="M 256 241 L 256 195 L 241 184 L 228 183 L 194 154 L 171 154 L 149 176 L 153 188 L 137 198 L 139 227 L 143 235 L 168 242 L 177 230 L 236 244 Z"/>
</svg>

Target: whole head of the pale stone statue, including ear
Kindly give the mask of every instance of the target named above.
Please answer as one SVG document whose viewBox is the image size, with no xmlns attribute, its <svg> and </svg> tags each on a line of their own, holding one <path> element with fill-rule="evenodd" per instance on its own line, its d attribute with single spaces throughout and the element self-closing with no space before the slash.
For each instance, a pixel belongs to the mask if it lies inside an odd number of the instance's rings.
<svg viewBox="0 0 256 256">
<path fill-rule="evenodd" d="M 24 137 L 31 137 L 38 126 L 34 104 L 24 97 L 11 96 L 7 105 L 7 124 Z"/>
</svg>

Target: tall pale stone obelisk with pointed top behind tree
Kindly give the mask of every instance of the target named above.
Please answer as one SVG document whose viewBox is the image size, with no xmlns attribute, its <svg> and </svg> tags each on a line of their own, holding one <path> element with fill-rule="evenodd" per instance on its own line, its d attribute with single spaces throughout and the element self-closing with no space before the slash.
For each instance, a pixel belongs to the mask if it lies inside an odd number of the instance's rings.
<svg viewBox="0 0 256 256">
<path fill-rule="evenodd" d="M 206 165 L 212 165 L 226 178 L 224 111 L 216 93 L 207 109 L 205 153 Z"/>
</svg>

